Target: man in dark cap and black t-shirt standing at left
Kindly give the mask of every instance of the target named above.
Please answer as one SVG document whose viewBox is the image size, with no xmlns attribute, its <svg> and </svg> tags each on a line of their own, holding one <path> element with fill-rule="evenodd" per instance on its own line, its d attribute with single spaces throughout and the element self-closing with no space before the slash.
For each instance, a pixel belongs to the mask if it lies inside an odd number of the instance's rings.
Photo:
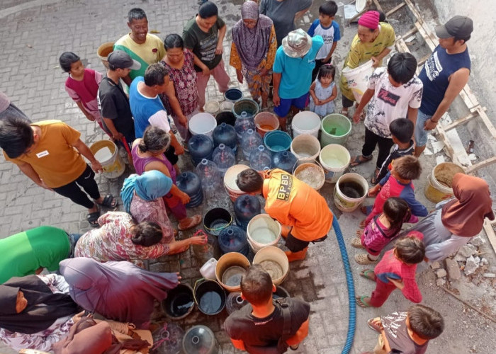
<svg viewBox="0 0 496 354">
<path fill-rule="evenodd" d="M 135 140 L 135 125 L 129 99 L 124 93 L 120 79 L 140 67 L 141 64 L 128 53 L 114 50 L 108 55 L 107 74 L 103 76 L 96 95 L 103 124 L 111 132 L 113 139 L 123 143 L 125 141 L 129 147 Z"/>
</svg>

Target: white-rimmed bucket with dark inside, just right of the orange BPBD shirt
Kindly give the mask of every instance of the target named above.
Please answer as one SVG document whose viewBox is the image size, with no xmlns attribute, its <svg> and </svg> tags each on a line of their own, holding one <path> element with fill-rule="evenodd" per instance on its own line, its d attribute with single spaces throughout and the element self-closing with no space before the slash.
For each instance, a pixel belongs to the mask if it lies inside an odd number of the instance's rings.
<svg viewBox="0 0 496 354">
<path fill-rule="evenodd" d="M 346 173 L 339 177 L 334 187 L 334 204 L 342 212 L 353 212 L 368 193 L 368 183 L 357 173 Z"/>
</svg>

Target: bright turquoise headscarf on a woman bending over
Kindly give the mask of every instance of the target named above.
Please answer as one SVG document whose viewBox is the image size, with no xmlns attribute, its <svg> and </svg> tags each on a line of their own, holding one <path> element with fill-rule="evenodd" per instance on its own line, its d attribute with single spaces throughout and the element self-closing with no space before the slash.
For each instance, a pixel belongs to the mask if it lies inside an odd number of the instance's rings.
<svg viewBox="0 0 496 354">
<path fill-rule="evenodd" d="M 135 192 L 142 200 L 150 202 L 162 198 L 169 193 L 171 187 L 171 178 L 160 171 L 145 171 L 141 176 L 133 173 L 124 180 L 120 198 L 123 200 L 125 211 L 130 212 L 131 200 Z"/>
</svg>

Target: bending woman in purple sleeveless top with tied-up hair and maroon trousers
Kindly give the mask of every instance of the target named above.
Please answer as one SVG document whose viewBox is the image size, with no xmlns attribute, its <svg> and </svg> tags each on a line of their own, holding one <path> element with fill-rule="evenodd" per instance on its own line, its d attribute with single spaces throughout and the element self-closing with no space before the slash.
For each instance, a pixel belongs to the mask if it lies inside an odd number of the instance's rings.
<svg viewBox="0 0 496 354">
<path fill-rule="evenodd" d="M 150 125 L 143 133 L 143 138 L 136 139 L 133 142 L 131 154 L 133 155 L 133 165 L 137 174 L 157 170 L 171 178 L 174 184 L 169 188 L 169 192 L 163 195 L 164 202 L 179 222 L 178 229 L 183 231 L 200 224 L 201 215 L 188 217 L 186 214 L 186 204 L 190 198 L 189 195 L 179 190 L 176 186 L 176 171 L 164 155 L 169 144 L 169 133 L 159 127 Z"/>
</svg>

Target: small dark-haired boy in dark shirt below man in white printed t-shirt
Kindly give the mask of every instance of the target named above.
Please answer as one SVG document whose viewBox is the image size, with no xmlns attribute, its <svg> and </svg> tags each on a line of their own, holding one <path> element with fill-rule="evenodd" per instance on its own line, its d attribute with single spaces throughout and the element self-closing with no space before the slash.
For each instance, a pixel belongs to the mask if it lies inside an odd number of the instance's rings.
<svg viewBox="0 0 496 354">
<path fill-rule="evenodd" d="M 391 148 L 389 156 L 383 162 L 381 169 L 377 169 L 376 173 L 373 174 L 371 179 L 373 185 L 376 185 L 378 181 L 381 181 L 388 174 L 388 171 L 391 169 L 390 164 L 394 159 L 398 159 L 401 156 L 413 155 L 415 151 L 415 145 L 412 140 L 414 125 L 411 120 L 406 118 L 395 119 L 389 125 L 389 130 L 395 144 Z"/>
</svg>

